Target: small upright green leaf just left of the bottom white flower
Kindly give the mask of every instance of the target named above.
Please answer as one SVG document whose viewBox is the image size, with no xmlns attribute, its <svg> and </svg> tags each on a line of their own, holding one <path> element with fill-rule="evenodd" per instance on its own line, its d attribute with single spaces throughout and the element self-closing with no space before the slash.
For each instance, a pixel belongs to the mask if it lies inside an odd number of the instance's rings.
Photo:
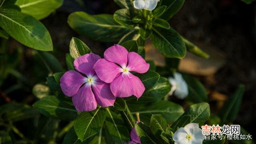
<svg viewBox="0 0 256 144">
<path fill-rule="evenodd" d="M 166 128 L 167 122 L 160 114 L 154 114 L 151 116 L 150 129 L 156 138 L 158 138 L 162 143 L 165 143 L 165 141 L 162 139 L 161 134 L 162 132 L 165 133 Z"/>
</svg>

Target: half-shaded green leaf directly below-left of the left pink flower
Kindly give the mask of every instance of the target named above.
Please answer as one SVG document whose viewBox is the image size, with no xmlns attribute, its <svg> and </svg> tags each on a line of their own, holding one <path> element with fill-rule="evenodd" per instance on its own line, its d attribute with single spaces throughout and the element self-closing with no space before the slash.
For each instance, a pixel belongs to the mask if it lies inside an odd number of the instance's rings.
<svg viewBox="0 0 256 144">
<path fill-rule="evenodd" d="M 63 96 L 46 96 L 33 104 L 45 116 L 60 120 L 74 120 L 77 111 L 70 98 Z"/>
</svg>

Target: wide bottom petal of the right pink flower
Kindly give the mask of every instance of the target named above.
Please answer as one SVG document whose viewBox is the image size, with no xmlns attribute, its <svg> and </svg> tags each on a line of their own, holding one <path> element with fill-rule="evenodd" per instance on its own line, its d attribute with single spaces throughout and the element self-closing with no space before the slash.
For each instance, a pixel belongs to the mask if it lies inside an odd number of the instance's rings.
<svg viewBox="0 0 256 144">
<path fill-rule="evenodd" d="M 145 91 L 141 80 L 130 72 L 128 72 L 128 74 L 122 73 L 120 76 L 116 77 L 113 82 L 110 83 L 110 89 L 116 97 L 129 97 L 134 95 L 140 98 Z"/>
</svg>

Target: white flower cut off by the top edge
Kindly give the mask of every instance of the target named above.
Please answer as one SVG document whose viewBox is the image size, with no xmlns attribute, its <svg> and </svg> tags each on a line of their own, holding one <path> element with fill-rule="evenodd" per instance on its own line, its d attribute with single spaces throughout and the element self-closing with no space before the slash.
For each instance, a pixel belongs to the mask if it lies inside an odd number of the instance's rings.
<svg viewBox="0 0 256 144">
<path fill-rule="evenodd" d="M 134 8 L 138 9 L 138 10 L 154 10 L 157 6 L 157 2 L 159 2 L 160 0 L 134 0 L 133 1 L 133 5 Z"/>
</svg>

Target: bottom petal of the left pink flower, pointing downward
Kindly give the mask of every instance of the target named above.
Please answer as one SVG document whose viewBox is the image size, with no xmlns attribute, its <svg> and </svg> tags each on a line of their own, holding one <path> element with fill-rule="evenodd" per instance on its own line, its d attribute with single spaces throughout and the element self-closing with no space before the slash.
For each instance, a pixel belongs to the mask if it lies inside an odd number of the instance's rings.
<svg viewBox="0 0 256 144">
<path fill-rule="evenodd" d="M 97 108 L 97 102 L 89 84 L 84 84 L 72 97 L 72 102 L 78 112 L 89 112 Z"/>
</svg>

